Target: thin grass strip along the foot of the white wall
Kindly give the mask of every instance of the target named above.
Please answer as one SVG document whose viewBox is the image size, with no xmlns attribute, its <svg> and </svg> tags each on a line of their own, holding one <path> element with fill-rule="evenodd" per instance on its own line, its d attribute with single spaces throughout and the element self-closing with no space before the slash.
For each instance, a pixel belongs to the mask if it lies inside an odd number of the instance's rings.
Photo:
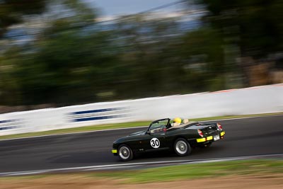
<svg viewBox="0 0 283 189">
<path fill-rule="evenodd" d="M 218 116 L 218 117 L 210 117 L 210 118 L 196 118 L 190 119 L 192 121 L 206 121 L 206 120 L 222 120 L 222 119 L 231 119 L 231 118 L 248 118 L 248 117 L 256 117 L 256 116 L 264 116 L 264 115 L 282 115 L 283 113 L 264 113 L 264 114 L 255 114 L 255 115 L 228 115 L 228 116 Z M 74 132 L 86 132 L 86 131 L 95 131 L 95 130 L 109 130 L 109 129 L 119 129 L 119 128 L 127 128 L 127 127 L 141 127 L 149 125 L 151 121 L 142 121 L 142 122 L 124 122 L 124 123 L 116 123 L 116 124 L 108 124 L 108 125 L 92 125 L 87 127 L 74 127 L 67 128 L 61 130 L 50 130 L 45 132 L 29 132 L 23 134 L 10 134 L 5 136 L 0 136 L 0 139 L 13 139 L 13 138 L 21 138 L 21 137 L 35 137 L 42 136 L 48 134 L 64 134 L 64 133 L 74 133 Z"/>
</svg>

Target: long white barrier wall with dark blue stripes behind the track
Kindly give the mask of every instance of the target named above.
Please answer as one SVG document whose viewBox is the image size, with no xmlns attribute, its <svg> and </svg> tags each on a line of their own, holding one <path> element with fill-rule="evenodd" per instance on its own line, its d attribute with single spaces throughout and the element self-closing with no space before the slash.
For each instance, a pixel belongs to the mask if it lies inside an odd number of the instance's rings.
<svg viewBox="0 0 283 189">
<path fill-rule="evenodd" d="M 283 112 L 283 84 L 0 115 L 0 135 L 159 118 Z"/>
</svg>

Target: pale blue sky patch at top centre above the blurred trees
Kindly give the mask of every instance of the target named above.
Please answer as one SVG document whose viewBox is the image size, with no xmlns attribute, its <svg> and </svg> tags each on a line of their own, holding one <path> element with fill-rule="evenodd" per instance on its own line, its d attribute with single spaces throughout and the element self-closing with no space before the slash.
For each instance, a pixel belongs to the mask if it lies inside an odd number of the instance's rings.
<svg viewBox="0 0 283 189">
<path fill-rule="evenodd" d="M 100 10 L 100 16 L 120 16 L 139 13 L 150 8 L 170 4 L 178 0 L 83 0 Z M 163 11 L 174 11 L 178 5 L 165 8 Z M 179 5 L 180 7 L 180 5 Z"/>
</svg>

